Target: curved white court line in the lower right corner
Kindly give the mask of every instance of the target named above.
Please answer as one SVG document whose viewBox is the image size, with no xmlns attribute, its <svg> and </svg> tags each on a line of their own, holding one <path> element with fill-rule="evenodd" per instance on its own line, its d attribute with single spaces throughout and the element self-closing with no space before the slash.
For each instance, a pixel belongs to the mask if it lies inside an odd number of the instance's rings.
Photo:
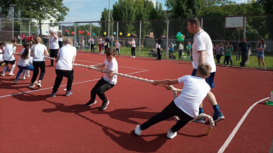
<svg viewBox="0 0 273 153">
<path fill-rule="evenodd" d="M 249 114 L 250 110 L 256 106 L 259 102 L 262 102 L 266 99 L 269 99 L 269 97 L 264 98 L 262 100 L 259 100 L 257 102 L 255 102 L 252 106 L 250 106 L 248 108 L 248 110 L 245 112 L 245 114 L 243 115 L 243 117 L 241 118 L 241 120 L 239 121 L 239 123 L 236 125 L 236 127 L 234 128 L 234 130 L 231 132 L 231 134 L 229 135 L 229 137 L 227 138 L 226 142 L 223 144 L 223 146 L 219 149 L 218 153 L 223 153 L 225 151 L 225 149 L 227 148 L 227 146 L 229 145 L 229 143 L 231 142 L 232 138 L 234 137 L 234 135 L 236 134 L 236 132 L 239 130 L 240 126 L 243 124 L 243 121 L 245 120 L 246 116 Z"/>
</svg>

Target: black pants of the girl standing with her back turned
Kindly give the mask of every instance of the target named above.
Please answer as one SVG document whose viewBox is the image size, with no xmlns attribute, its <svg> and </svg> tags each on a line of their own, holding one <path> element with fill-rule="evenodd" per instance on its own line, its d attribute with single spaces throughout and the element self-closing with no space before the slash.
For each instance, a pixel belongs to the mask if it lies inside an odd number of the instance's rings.
<svg viewBox="0 0 273 153">
<path fill-rule="evenodd" d="M 33 61 L 33 67 L 34 67 L 34 72 L 33 72 L 32 78 L 31 78 L 31 83 L 34 83 L 36 78 L 38 77 L 39 68 L 40 68 L 39 80 L 43 80 L 44 73 L 46 73 L 45 61 Z"/>
</svg>

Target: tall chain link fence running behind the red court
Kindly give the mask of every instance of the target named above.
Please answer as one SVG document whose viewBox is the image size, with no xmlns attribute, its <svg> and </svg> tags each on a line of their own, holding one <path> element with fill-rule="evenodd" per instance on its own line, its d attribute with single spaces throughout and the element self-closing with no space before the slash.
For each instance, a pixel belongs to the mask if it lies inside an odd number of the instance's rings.
<svg viewBox="0 0 273 153">
<path fill-rule="evenodd" d="M 259 40 L 262 38 L 265 41 L 266 48 L 264 50 L 264 61 L 266 68 L 273 68 L 273 15 L 256 15 L 256 16 L 241 16 L 243 21 L 236 21 L 242 23 L 241 27 L 227 27 L 227 18 L 229 17 L 205 17 L 199 18 L 201 27 L 206 31 L 215 45 L 226 45 L 230 41 L 233 45 L 232 60 L 233 65 L 239 66 L 240 61 L 236 60 L 238 52 L 238 44 L 243 37 L 247 37 L 247 41 L 251 43 L 251 55 L 249 56 L 248 67 L 258 67 L 258 59 L 256 57 L 256 47 Z M 9 42 L 10 39 L 17 35 L 32 34 L 37 35 L 39 25 L 37 20 L 32 19 L 12 19 L 0 18 L 0 41 Z M 192 45 L 194 34 L 189 33 L 187 29 L 188 19 L 163 19 L 163 20 L 142 20 L 142 21 L 110 21 L 108 28 L 108 21 L 97 22 L 75 22 L 75 23 L 44 23 L 41 25 L 42 31 L 40 33 L 42 40 L 46 41 L 44 37 L 49 36 L 49 27 L 55 27 L 61 30 L 63 34 L 63 42 L 71 38 L 79 50 L 91 51 L 90 37 L 94 39 L 94 49 L 99 53 L 99 43 L 97 39 L 102 36 L 110 37 L 109 47 L 115 47 L 116 40 L 121 45 L 121 55 L 131 56 L 131 45 L 128 41 L 132 38 L 136 42 L 136 56 L 157 58 L 155 44 L 157 38 L 161 38 L 161 54 L 163 59 L 172 60 L 192 60 L 192 50 L 188 51 L 188 43 Z M 14 25 L 14 26 L 13 26 Z M 66 32 L 68 31 L 68 32 Z M 79 33 L 84 31 L 84 33 Z M 109 31 L 109 32 L 108 32 Z M 179 52 L 179 42 L 176 41 L 178 32 L 184 35 L 183 52 Z M 75 34 L 73 34 L 75 33 Z M 89 35 L 88 35 L 89 34 Z M 130 34 L 130 35 L 129 35 Z M 84 40 L 82 43 L 81 40 Z M 22 41 L 22 40 L 21 40 Z M 173 52 L 169 52 L 169 43 L 174 44 Z M 48 46 L 48 41 L 46 41 Z M 153 47 L 153 48 L 152 48 Z M 239 55 L 239 54 L 238 54 Z M 224 57 L 220 59 L 220 64 L 223 64 Z M 215 59 L 216 62 L 216 59 Z"/>
</svg>

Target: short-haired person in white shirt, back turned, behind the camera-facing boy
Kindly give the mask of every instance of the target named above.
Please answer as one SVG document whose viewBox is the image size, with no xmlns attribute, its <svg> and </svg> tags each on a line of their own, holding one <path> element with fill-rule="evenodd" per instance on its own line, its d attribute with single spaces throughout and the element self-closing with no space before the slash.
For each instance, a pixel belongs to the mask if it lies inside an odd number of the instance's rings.
<svg viewBox="0 0 273 153">
<path fill-rule="evenodd" d="M 61 85 L 63 77 L 67 77 L 67 86 L 66 86 L 66 93 L 65 96 L 71 95 L 73 92 L 71 90 L 72 82 L 73 82 L 73 72 L 72 64 L 75 62 L 77 49 L 72 46 L 73 41 L 72 39 L 67 39 L 66 45 L 63 46 L 57 58 L 55 59 L 56 65 L 56 79 L 53 86 L 53 91 L 50 94 L 51 97 L 56 97 L 56 92 Z"/>
</svg>

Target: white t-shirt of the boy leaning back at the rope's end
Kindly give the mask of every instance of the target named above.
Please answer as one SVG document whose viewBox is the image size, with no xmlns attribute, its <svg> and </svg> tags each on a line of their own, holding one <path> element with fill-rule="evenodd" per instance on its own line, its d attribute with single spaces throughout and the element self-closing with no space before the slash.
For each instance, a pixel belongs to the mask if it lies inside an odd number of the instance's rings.
<svg viewBox="0 0 273 153">
<path fill-rule="evenodd" d="M 210 91 L 210 86 L 205 79 L 186 75 L 178 78 L 179 83 L 184 83 L 181 94 L 174 99 L 178 108 L 189 116 L 196 118 L 199 106 Z"/>
</svg>

